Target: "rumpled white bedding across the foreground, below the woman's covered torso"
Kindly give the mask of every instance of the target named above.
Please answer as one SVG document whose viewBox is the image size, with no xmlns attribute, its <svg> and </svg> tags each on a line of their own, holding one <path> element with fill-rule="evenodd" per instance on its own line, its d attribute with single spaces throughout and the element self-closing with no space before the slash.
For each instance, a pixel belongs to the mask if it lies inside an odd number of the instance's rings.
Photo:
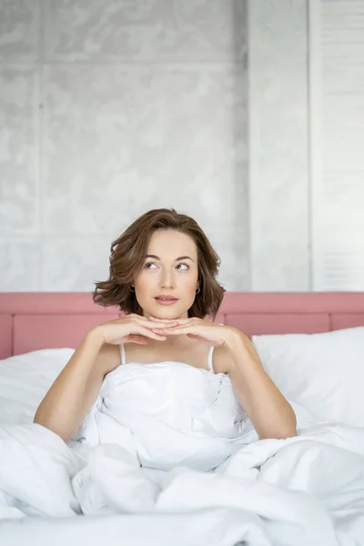
<svg viewBox="0 0 364 546">
<path fill-rule="evenodd" d="M 364 543 L 363 430 L 258 440 L 210 472 L 150 472 L 117 444 L 80 452 L 35 424 L 2 427 L 0 441 L 5 546 Z"/>
</svg>

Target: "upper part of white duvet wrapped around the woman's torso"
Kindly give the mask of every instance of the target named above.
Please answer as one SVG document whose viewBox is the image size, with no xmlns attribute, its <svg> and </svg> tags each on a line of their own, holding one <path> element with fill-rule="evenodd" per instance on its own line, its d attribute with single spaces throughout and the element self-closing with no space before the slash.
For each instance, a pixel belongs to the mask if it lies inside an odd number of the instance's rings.
<svg viewBox="0 0 364 546">
<path fill-rule="evenodd" d="M 227 375 L 180 362 L 116 368 L 75 436 L 117 441 L 143 467 L 205 471 L 257 438 Z"/>
</svg>

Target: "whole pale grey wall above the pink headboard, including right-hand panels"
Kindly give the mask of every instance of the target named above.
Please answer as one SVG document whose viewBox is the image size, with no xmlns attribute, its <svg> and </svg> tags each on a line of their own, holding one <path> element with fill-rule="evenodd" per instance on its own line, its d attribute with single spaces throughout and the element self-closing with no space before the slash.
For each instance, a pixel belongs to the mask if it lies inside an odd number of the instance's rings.
<svg viewBox="0 0 364 546">
<path fill-rule="evenodd" d="M 0 0 L 0 290 L 91 289 L 152 207 L 228 290 L 364 289 L 363 7 Z"/>
</svg>

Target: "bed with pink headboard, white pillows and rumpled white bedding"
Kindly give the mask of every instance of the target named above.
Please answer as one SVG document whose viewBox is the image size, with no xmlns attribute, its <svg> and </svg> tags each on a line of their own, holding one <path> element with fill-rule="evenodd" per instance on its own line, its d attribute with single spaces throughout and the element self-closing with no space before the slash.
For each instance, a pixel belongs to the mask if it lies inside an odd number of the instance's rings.
<svg viewBox="0 0 364 546">
<path fill-rule="evenodd" d="M 33 423 L 86 330 L 119 316 L 86 293 L 0 294 L 2 545 L 364 543 L 364 293 L 226 293 L 216 320 L 252 339 L 298 437 L 157 478 L 118 442 L 85 454 Z"/>
</svg>

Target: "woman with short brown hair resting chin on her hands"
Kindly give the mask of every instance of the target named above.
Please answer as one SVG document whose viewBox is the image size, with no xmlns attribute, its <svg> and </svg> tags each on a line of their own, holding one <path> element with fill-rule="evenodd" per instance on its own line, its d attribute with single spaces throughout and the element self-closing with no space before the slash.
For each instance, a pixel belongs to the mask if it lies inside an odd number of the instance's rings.
<svg viewBox="0 0 364 546">
<path fill-rule="evenodd" d="M 249 339 L 238 329 L 207 319 L 215 319 L 225 291 L 217 282 L 218 266 L 216 252 L 191 217 L 166 208 L 138 217 L 112 244 L 109 278 L 96 283 L 94 293 L 96 303 L 118 306 L 126 315 L 86 333 L 41 402 L 35 423 L 70 440 L 96 401 L 106 375 L 132 374 L 128 381 L 120 376 L 119 382 L 123 399 L 128 399 L 127 389 L 132 389 L 130 379 L 135 379 L 137 369 L 139 380 L 147 373 L 151 379 L 168 374 L 157 383 L 161 389 L 166 380 L 175 381 L 175 397 L 168 402 L 172 406 L 166 419 L 171 419 L 173 411 L 175 420 L 179 410 L 180 415 L 188 412 L 189 402 L 181 394 L 187 373 L 188 385 L 195 388 L 197 381 L 204 393 L 206 381 L 211 382 L 215 374 L 220 381 L 217 392 L 225 380 L 232 394 L 227 394 L 227 401 L 220 400 L 214 415 L 224 413 L 223 404 L 233 408 L 238 399 L 260 439 L 295 436 L 295 413 L 268 378 Z M 136 389 L 130 399 L 139 394 Z M 154 396 L 165 397 L 166 392 Z M 232 401 L 231 397 L 236 398 Z M 144 397 L 143 403 L 153 400 L 146 402 Z M 145 407 L 144 411 L 146 415 Z M 159 419 L 156 412 L 153 415 L 151 426 Z M 230 417 L 235 426 L 238 418 L 227 412 L 227 419 Z M 198 426 L 201 428 L 200 423 Z M 206 429 L 206 423 L 203 427 Z M 221 431 L 216 435 L 221 436 Z"/>
</svg>

